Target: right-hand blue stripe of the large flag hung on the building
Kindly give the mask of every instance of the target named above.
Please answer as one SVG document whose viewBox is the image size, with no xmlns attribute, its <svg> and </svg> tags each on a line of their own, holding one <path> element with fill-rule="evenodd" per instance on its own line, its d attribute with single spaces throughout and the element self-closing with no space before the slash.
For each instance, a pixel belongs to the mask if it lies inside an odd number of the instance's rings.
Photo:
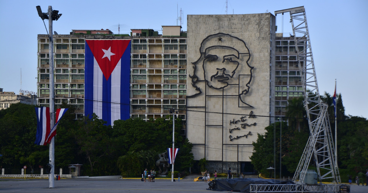
<svg viewBox="0 0 368 193">
<path fill-rule="evenodd" d="M 121 57 L 120 119 L 130 118 L 130 43 Z"/>
</svg>

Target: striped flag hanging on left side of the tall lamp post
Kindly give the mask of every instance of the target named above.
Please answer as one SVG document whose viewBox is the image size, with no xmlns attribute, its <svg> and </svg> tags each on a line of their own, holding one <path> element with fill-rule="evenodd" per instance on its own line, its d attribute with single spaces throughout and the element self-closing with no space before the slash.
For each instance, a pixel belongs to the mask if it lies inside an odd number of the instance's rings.
<svg viewBox="0 0 368 193">
<path fill-rule="evenodd" d="M 50 108 L 35 107 L 37 117 L 36 141 L 37 145 L 46 145 L 47 136 L 50 133 Z"/>
</svg>

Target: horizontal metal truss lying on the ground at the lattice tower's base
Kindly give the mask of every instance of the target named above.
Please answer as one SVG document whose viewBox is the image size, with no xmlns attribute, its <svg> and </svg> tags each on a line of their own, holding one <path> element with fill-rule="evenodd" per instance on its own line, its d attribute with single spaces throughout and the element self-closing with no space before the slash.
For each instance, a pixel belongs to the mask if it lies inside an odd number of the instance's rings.
<svg viewBox="0 0 368 193">
<path fill-rule="evenodd" d="M 336 193 L 339 192 L 339 186 L 337 184 L 317 184 L 317 185 L 305 185 L 305 184 L 251 184 L 251 193 L 263 193 L 263 192 L 293 192 L 293 193 Z"/>
</svg>

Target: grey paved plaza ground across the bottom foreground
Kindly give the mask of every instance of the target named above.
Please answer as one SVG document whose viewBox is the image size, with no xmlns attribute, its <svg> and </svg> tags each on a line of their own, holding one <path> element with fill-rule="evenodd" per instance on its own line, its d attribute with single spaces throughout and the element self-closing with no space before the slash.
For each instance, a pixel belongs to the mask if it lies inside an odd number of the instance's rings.
<svg viewBox="0 0 368 193">
<path fill-rule="evenodd" d="M 206 190 L 208 183 L 193 182 L 198 176 L 188 176 L 180 182 L 157 179 L 156 182 L 141 182 L 140 179 L 91 179 L 73 178 L 55 181 L 55 188 L 49 189 L 48 179 L 6 179 L 0 178 L 0 193 L 212 193 Z M 177 180 L 177 179 L 176 179 Z M 350 186 L 351 193 L 368 193 L 368 186 Z"/>
</svg>

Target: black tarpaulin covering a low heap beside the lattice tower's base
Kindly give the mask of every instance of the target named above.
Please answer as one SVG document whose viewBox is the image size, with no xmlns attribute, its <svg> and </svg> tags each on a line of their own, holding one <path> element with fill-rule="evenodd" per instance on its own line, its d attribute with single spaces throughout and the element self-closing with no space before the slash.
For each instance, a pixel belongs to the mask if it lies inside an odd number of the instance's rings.
<svg viewBox="0 0 368 193">
<path fill-rule="evenodd" d="M 209 188 L 207 190 L 248 193 L 250 184 L 293 184 L 293 182 L 259 178 L 216 179 L 208 183 Z"/>
</svg>

